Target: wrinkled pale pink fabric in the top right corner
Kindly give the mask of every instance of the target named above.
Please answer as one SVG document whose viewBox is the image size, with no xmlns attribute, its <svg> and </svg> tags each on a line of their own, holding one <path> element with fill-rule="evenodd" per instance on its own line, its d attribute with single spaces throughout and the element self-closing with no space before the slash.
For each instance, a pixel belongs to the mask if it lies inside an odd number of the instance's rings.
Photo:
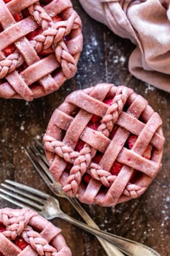
<svg viewBox="0 0 170 256">
<path fill-rule="evenodd" d="M 136 48 L 129 71 L 170 93 L 170 1 L 79 0 L 86 12 Z"/>
</svg>

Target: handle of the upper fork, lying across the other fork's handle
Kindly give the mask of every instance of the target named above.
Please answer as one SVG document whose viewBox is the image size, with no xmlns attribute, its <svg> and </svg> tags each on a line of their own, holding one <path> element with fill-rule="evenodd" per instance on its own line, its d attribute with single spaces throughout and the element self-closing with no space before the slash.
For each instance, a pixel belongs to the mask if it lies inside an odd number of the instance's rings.
<svg viewBox="0 0 170 256">
<path fill-rule="evenodd" d="M 53 216 L 53 218 L 55 217 L 62 218 L 63 220 L 68 221 L 75 226 L 78 226 L 79 228 L 88 231 L 91 234 L 94 234 L 94 236 L 99 236 L 102 239 L 106 239 L 108 242 L 114 244 L 117 248 L 120 249 L 121 252 L 125 253 L 128 256 L 160 256 L 158 252 L 154 251 L 153 249 L 147 247 L 144 244 L 140 244 L 138 242 L 132 241 L 130 239 L 125 239 L 114 234 L 109 234 L 101 230 L 93 229 L 90 226 L 87 226 L 81 221 L 77 221 L 76 219 L 66 215 L 63 212 L 56 216 Z"/>
</svg>

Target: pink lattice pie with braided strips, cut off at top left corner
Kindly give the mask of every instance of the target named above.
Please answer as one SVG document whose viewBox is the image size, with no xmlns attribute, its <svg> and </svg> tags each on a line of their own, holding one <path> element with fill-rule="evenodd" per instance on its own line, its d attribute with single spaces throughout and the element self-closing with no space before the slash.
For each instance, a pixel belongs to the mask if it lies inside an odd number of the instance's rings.
<svg viewBox="0 0 170 256">
<path fill-rule="evenodd" d="M 82 41 L 70 0 L 0 0 L 0 97 L 58 90 L 76 73 Z"/>
</svg>

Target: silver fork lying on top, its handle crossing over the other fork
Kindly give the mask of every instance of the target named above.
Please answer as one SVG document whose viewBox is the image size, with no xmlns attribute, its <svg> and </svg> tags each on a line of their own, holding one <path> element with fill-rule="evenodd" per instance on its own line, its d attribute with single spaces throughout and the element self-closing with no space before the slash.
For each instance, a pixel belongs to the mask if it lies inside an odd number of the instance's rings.
<svg viewBox="0 0 170 256">
<path fill-rule="evenodd" d="M 52 197 L 44 192 L 40 192 L 32 187 L 19 184 L 6 180 L 5 184 L 1 184 L 0 197 L 14 203 L 21 208 L 32 208 L 36 210 L 41 216 L 52 220 L 53 218 L 62 218 L 76 226 L 79 226 L 89 233 L 97 235 L 102 239 L 106 239 L 108 242 L 114 244 L 123 253 L 129 256 L 161 256 L 158 255 L 153 249 L 146 247 L 144 244 L 131 241 L 129 239 L 122 238 L 113 234 L 109 234 L 104 231 L 93 229 L 81 221 L 68 216 L 60 208 L 59 202 L 55 197 Z"/>
</svg>

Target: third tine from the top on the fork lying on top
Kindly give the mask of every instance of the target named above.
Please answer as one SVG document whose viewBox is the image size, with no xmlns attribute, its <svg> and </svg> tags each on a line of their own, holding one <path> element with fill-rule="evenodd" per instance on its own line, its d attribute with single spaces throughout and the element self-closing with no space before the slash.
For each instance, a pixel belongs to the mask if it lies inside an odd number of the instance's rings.
<svg viewBox="0 0 170 256">
<path fill-rule="evenodd" d="M 43 208 L 43 206 L 37 205 L 36 202 L 33 202 L 32 200 L 26 199 L 24 197 L 20 197 L 19 195 L 14 194 L 12 192 L 8 192 L 5 189 L 0 188 L 0 192 L 3 192 L 4 194 L 9 195 L 9 197 L 17 199 L 18 201 L 24 202 L 24 204 L 27 205 L 26 207 L 28 207 L 28 208 L 30 208 L 30 206 L 32 206 L 33 208 L 37 208 L 38 210 L 42 210 L 42 208 Z"/>
</svg>

